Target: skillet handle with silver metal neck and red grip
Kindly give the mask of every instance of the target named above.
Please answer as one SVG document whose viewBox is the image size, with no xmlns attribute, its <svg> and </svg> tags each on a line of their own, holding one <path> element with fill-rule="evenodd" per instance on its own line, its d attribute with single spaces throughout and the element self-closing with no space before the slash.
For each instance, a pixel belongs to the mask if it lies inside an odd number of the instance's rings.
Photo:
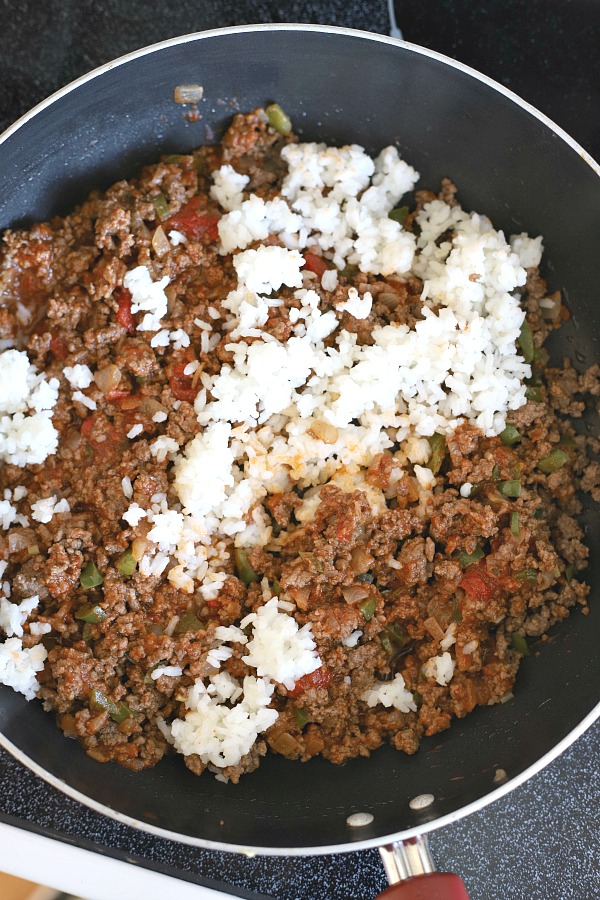
<svg viewBox="0 0 600 900">
<path fill-rule="evenodd" d="M 425 835 L 379 848 L 390 887 L 377 900 L 469 900 L 458 875 L 436 872 Z"/>
</svg>

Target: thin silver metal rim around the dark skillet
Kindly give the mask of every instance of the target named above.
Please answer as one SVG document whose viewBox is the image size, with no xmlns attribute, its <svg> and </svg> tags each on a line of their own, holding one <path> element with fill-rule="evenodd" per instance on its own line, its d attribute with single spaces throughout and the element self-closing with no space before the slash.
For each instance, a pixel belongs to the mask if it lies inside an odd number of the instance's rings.
<svg viewBox="0 0 600 900">
<path fill-rule="evenodd" d="M 185 35 L 178 35 L 177 37 L 169 38 L 164 41 L 159 41 L 154 44 L 149 44 L 145 47 L 142 47 L 138 50 L 134 50 L 130 53 L 127 53 L 123 56 L 117 57 L 114 60 L 111 60 L 107 63 L 104 63 L 101 66 L 98 66 L 95 69 L 92 69 L 90 72 L 85 75 L 81 75 L 79 78 L 74 81 L 69 82 L 64 87 L 59 88 L 58 91 L 55 91 L 45 100 L 42 100 L 40 103 L 36 104 L 32 109 L 28 112 L 24 113 L 20 118 L 18 118 L 12 125 L 10 125 L 1 135 L 0 135 L 0 147 L 6 143 L 16 132 L 27 122 L 33 119 L 36 115 L 38 115 L 43 110 L 52 106 L 54 103 L 60 101 L 63 97 L 70 94 L 72 91 L 82 87 L 90 81 L 93 81 L 95 78 L 98 78 L 104 75 L 106 72 L 110 72 L 113 69 L 116 69 L 122 65 L 125 65 L 133 60 L 140 59 L 141 57 L 148 56 L 151 53 L 157 53 L 162 50 L 165 50 L 170 47 L 175 47 L 180 44 L 199 42 L 201 40 L 205 40 L 207 38 L 218 37 L 221 35 L 234 35 L 234 34 L 249 34 L 249 33 L 260 33 L 260 32 L 312 32 L 312 33 L 324 33 L 331 35 L 341 35 L 344 37 L 354 37 L 361 38 L 363 40 L 372 41 L 373 43 L 382 43 L 382 44 L 390 44 L 392 46 L 401 47 L 404 50 L 407 50 L 411 53 L 416 53 L 419 56 L 426 56 L 430 59 L 436 60 L 437 62 L 442 63 L 443 65 L 449 66 L 450 68 L 457 69 L 460 72 L 463 72 L 466 75 L 474 78 L 476 81 L 481 82 L 482 84 L 487 85 L 498 93 L 502 94 L 504 97 L 509 99 L 511 102 L 515 103 L 521 109 L 523 109 L 526 113 L 538 119 L 543 125 L 550 129 L 557 137 L 559 137 L 564 143 L 566 143 L 571 150 L 574 150 L 577 155 L 590 166 L 592 171 L 600 177 L 600 165 L 596 160 L 585 150 L 577 141 L 574 140 L 566 131 L 564 131 L 559 125 L 557 125 L 552 119 L 546 116 L 544 113 L 540 112 L 535 106 L 528 103 L 526 100 L 523 100 L 513 91 L 506 88 L 504 85 L 495 81 L 492 78 L 489 78 L 487 75 L 484 75 L 481 72 L 478 72 L 476 69 L 471 68 L 470 66 L 464 65 L 458 60 L 452 59 L 449 56 L 445 56 L 442 53 L 438 53 L 435 50 L 429 50 L 427 47 L 421 47 L 418 44 L 413 44 L 409 41 L 400 40 L 398 38 L 388 37 L 383 34 L 376 34 L 374 32 L 363 31 L 355 28 L 344 28 L 341 26 L 333 26 L 333 25 L 316 25 L 316 24 L 302 24 L 302 23 L 264 23 L 264 24 L 254 24 L 254 25 L 236 25 L 236 26 L 226 26 L 223 28 L 213 28 L 207 31 L 197 31 L 191 32 Z M 536 775 L 542 769 L 544 769 L 549 763 L 555 760 L 558 756 L 560 756 L 568 747 L 571 746 L 581 735 L 590 728 L 593 723 L 600 718 L 600 701 L 596 704 L 596 706 L 585 716 L 581 722 L 579 722 L 575 728 L 573 728 L 568 735 L 566 735 L 562 740 L 560 740 L 557 744 L 554 745 L 547 753 L 541 756 L 535 763 L 530 765 L 528 768 L 524 769 L 518 775 L 506 781 L 504 784 L 498 786 L 497 788 L 491 790 L 489 793 L 485 794 L 485 796 L 480 797 L 479 799 L 468 803 L 465 806 L 460 807 L 460 809 L 455 810 L 451 813 L 448 813 L 444 816 L 441 816 L 437 819 L 433 819 L 431 821 L 423 822 L 420 825 L 409 828 L 404 831 L 393 832 L 392 834 L 386 835 L 385 837 L 377 837 L 377 838 L 365 838 L 358 839 L 350 842 L 345 842 L 342 844 L 328 844 L 322 846 L 313 846 L 313 847 L 262 847 L 262 846 L 253 846 L 253 845 L 242 845 L 242 844 L 226 844 L 220 841 L 211 841 L 206 840 L 204 838 L 197 838 L 191 835 L 181 834 L 179 832 L 169 831 L 165 828 L 160 828 L 155 825 L 151 825 L 146 821 L 142 821 L 139 819 L 135 819 L 131 816 L 127 816 L 118 810 L 114 810 L 105 804 L 99 803 L 91 797 L 81 793 L 75 788 L 72 788 L 66 782 L 62 781 L 62 779 L 57 778 L 52 775 L 50 772 L 47 772 L 41 765 L 23 753 L 12 741 L 8 740 L 6 736 L 0 731 L 0 746 L 2 746 L 7 752 L 9 752 L 18 762 L 22 765 L 26 766 L 30 769 L 35 775 L 40 777 L 47 784 L 50 784 L 52 787 L 61 791 L 61 793 L 66 794 L 73 800 L 76 800 L 79 803 L 82 803 L 84 806 L 87 806 L 90 809 L 93 809 L 95 812 L 102 813 L 105 816 L 108 816 L 111 819 L 115 819 L 121 824 L 127 825 L 131 828 L 136 828 L 140 831 L 144 831 L 148 834 L 152 834 L 154 837 L 164 838 L 166 840 L 174 840 L 179 841 L 180 843 L 188 844 L 195 847 L 201 847 L 207 850 L 217 850 L 221 852 L 227 853 L 241 853 L 246 856 L 255 856 L 255 855 L 264 855 L 264 856 L 322 856 L 331 853 L 349 853 L 354 850 L 366 850 L 371 848 L 378 848 L 383 846 L 386 843 L 391 843 L 395 840 L 404 840 L 409 837 L 416 836 L 418 834 L 424 834 L 430 831 L 436 831 L 438 828 L 443 828 L 446 825 L 450 825 L 453 822 L 459 821 L 460 819 L 470 815 L 471 813 L 477 812 L 488 804 L 493 803 L 496 800 L 499 800 L 501 797 L 504 797 L 514 788 L 519 787 L 521 784 L 524 784 L 529 778 L 533 775 Z"/>
</svg>

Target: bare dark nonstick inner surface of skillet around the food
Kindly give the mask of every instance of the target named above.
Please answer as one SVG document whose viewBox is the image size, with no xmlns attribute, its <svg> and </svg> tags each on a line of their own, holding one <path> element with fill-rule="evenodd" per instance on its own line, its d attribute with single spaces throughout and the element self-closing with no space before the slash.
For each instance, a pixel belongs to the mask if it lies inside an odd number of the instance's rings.
<svg viewBox="0 0 600 900">
<path fill-rule="evenodd" d="M 205 88 L 197 123 L 172 101 L 173 87 L 191 82 Z M 0 227 L 64 214 L 92 187 L 133 174 L 161 153 L 206 142 L 207 130 L 218 137 L 235 109 L 271 100 L 304 139 L 354 141 L 370 151 L 396 141 L 421 172 L 421 186 L 435 188 L 451 175 L 466 208 L 486 212 L 507 232 L 544 234 L 546 275 L 564 289 L 573 312 L 555 353 L 580 366 L 597 359 L 598 175 L 485 82 L 410 46 L 358 33 L 285 26 L 213 33 L 104 70 L 0 144 Z M 593 547 L 597 512 L 587 523 Z M 599 574 L 592 555 L 588 580 L 596 594 Z M 517 777 L 577 728 L 597 699 L 597 616 L 592 607 L 589 617 L 575 613 L 554 629 L 539 657 L 523 662 L 514 700 L 455 721 L 413 757 L 383 748 L 341 768 L 269 757 L 238 786 L 196 779 L 174 758 L 133 774 L 99 766 L 39 704 L 5 688 L 0 731 L 71 790 L 172 837 L 267 852 L 375 843 L 457 814 L 497 787 L 497 768 Z M 408 801 L 420 793 L 436 800 L 414 812 Z M 349 829 L 353 811 L 371 812 L 372 825 Z"/>
</svg>

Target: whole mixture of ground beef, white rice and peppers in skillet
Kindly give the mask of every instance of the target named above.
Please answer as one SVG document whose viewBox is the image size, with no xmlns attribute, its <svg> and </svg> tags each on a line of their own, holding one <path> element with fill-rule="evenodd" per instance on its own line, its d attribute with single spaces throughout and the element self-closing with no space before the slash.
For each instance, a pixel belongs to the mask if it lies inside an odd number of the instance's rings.
<svg viewBox="0 0 600 900">
<path fill-rule="evenodd" d="M 94 759 L 414 753 L 587 612 L 598 369 L 417 179 L 272 107 L 4 234 L 0 681 Z"/>
</svg>

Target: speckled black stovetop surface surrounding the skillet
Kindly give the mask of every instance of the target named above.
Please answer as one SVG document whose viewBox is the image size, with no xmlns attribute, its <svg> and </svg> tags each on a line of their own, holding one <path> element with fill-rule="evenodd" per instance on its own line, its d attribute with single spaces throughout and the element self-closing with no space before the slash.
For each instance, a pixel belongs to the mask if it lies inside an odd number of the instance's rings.
<svg viewBox="0 0 600 900">
<path fill-rule="evenodd" d="M 396 10 L 407 40 L 507 84 L 600 156 L 598 0 L 397 0 Z M 384 2 L 358 0 L 0 0 L 0 17 L 1 127 L 74 77 L 173 35 L 268 21 L 389 28 Z M 459 872 L 472 900 L 600 897 L 599 737 L 596 725 L 508 797 L 434 832 L 439 867 Z M 62 796 L 3 751 L 0 783 L 2 822 L 236 896 L 366 900 L 386 884 L 377 851 L 246 859 L 136 832 Z"/>
</svg>

